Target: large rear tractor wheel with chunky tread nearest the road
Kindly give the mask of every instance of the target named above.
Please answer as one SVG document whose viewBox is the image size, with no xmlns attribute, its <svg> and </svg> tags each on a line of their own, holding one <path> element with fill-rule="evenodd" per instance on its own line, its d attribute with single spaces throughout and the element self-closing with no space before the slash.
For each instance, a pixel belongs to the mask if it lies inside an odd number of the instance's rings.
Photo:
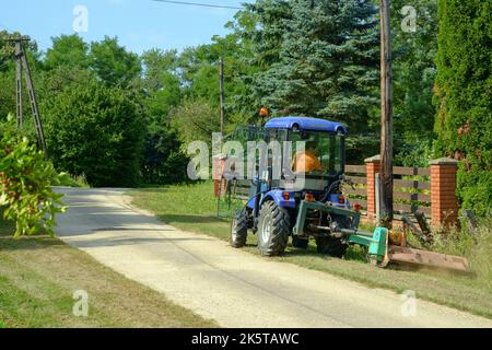
<svg viewBox="0 0 492 350">
<path fill-rule="evenodd" d="M 282 255 L 289 244 L 289 212 L 273 201 L 266 202 L 260 210 L 257 236 L 262 256 Z"/>
</svg>

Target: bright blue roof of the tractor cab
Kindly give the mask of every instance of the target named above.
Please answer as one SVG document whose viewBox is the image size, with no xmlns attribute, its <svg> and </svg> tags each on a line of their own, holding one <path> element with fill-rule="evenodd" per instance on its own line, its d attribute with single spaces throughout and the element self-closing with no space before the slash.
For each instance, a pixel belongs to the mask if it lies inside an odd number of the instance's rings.
<svg viewBox="0 0 492 350">
<path fill-rule="evenodd" d="M 281 117 L 269 120 L 267 129 L 298 129 L 301 131 L 326 131 L 347 135 L 347 127 L 340 122 L 306 117 Z"/>
</svg>

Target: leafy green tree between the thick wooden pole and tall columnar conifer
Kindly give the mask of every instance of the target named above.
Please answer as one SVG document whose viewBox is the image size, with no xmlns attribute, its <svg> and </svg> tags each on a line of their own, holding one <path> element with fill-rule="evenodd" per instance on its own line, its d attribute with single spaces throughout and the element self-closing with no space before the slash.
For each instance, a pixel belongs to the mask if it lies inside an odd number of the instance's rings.
<svg viewBox="0 0 492 350">
<path fill-rule="evenodd" d="M 405 166 L 427 166 L 432 156 L 436 75 L 437 1 L 414 0 L 415 30 L 403 31 L 406 0 L 391 1 L 394 56 L 394 114 L 396 162 Z"/>
</svg>

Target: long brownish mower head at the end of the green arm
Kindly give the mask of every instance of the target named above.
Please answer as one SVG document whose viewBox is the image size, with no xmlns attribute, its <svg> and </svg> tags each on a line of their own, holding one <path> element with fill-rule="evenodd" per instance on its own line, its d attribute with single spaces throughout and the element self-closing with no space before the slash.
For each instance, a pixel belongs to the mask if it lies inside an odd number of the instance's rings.
<svg viewBox="0 0 492 350">
<path fill-rule="evenodd" d="M 464 273 L 470 272 L 470 265 L 466 258 L 433 252 L 391 245 L 388 247 L 388 258 L 391 262 L 402 262 L 411 266 L 453 270 Z"/>
</svg>

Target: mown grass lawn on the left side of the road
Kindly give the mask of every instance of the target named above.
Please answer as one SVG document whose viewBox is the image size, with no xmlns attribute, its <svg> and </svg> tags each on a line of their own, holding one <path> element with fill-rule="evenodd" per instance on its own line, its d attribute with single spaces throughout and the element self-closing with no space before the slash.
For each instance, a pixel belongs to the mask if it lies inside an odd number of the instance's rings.
<svg viewBox="0 0 492 350">
<path fill-rule="evenodd" d="M 216 327 L 57 238 L 11 233 L 0 221 L 0 328 Z M 72 313 L 80 290 L 87 317 Z"/>
</svg>

